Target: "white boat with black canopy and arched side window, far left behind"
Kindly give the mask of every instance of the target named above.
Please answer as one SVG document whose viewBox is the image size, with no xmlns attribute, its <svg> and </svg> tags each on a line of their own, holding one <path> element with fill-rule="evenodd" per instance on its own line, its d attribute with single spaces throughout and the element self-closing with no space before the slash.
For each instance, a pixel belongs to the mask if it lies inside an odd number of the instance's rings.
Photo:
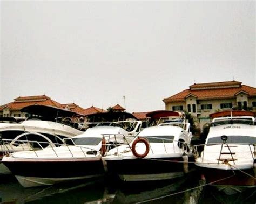
<svg viewBox="0 0 256 204">
<path fill-rule="evenodd" d="M 43 136 L 52 142 L 63 143 L 63 138 L 83 133 L 78 123 L 73 122 L 75 117 L 84 117 L 77 112 L 48 105 L 30 105 L 21 111 L 31 116 L 21 123 L 0 123 L 2 139 L 37 140 Z"/>
</svg>

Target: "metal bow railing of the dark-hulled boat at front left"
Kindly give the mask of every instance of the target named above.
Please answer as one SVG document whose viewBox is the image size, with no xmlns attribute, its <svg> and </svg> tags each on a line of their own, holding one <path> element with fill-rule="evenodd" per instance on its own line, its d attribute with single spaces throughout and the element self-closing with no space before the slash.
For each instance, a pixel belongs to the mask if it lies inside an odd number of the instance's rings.
<svg viewBox="0 0 256 204">
<path fill-rule="evenodd" d="M 3 155 L 11 156 L 10 153 L 17 152 L 17 151 L 33 151 L 35 156 L 39 158 L 37 153 L 38 150 L 42 149 L 52 149 L 56 157 L 60 157 L 60 153 L 58 152 L 58 147 L 65 146 L 67 150 L 70 152 L 71 157 L 75 157 L 75 150 L 73 150 L 72 146 L 76 146 L 80 149 L 79 152 L 82 152 L 84 157 L 87 155 L 94 155 L 99 156 L 100 151 L 92 149 L 86 146 L 79 146 L 79 145 L 68 145 L 68 144 L 59 144 L 59 143 L 49 143 L 49 142 L 39 142 L 39 141 L 32 141 L 32 140 L 13 140 L 13 139 L 2 139 L 1 140 L 1 151 Z M 76 148 L 76 152 L 77 152 Z M 90 150 L 90 151 L 88 151 Z"/>
</svg>

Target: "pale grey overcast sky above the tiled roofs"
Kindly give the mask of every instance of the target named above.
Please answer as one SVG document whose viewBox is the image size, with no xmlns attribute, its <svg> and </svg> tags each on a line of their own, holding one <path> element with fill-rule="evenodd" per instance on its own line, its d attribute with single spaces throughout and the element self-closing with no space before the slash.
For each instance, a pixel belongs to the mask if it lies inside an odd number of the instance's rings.
<svg viewBox="0 0 256 204">
<path fill-rule="evenodd" d="M 255 2 L 1 1 L 0 72 L 0 104 L 45 94 L 130 112 L 194 82 L 255 87 Z"/>
</svg>

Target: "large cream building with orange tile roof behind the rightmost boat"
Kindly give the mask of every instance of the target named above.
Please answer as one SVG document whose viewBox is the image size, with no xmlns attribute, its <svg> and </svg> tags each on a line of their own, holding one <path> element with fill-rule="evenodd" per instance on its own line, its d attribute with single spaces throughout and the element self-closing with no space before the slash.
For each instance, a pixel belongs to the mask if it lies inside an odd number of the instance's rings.
<svg viewBox="0 0 256 204">
<path fill-rule="evenodd" d="M 194 83 L 163 100 L 166 110 L 187 111 L 200 128 L 209 122 L 209 114 L 226 110 L 256 111 L 256 88 L 239 81 Z"/>
</svg>

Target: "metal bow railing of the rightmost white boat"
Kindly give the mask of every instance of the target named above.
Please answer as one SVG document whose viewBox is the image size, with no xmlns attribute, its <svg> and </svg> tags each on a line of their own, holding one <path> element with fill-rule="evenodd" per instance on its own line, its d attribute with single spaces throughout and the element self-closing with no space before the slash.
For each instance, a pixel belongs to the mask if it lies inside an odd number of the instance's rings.
<svg viewBox="0 0 256 204">
<path fill-rule="evenodd" d="M 205 151 L 205 147 L 206 146 L 214 146 L 214 145 L 221 145 L 220 146 L 220 150 L 219 151 Z M 231 150 L 231 147 L 237 147 L 237 145 L 248 145 L 248 153 L 251 154 L 252 159 L 254 160 L 256 157 L 256 145 L 255 144 L 249 144 L 249 143 L 211 143 L 211 144 L 199 144 L 199 145 L 193 145 L 193 152 L 194 152 L 194 157 L 197 158 L 201 158 L 201 161 L 203 162 L 205 159 L 205 154 L 206 153 L 219 153 L 219 157 L 218 157 L 218 161 L 217 164 L 220 163 L 220 161 L 227 161 L 227 159 L 221 159 L 222 155 L 229 155 L 231 157 L 231 161 L 233 162 L 233 164 L 235 164 L 235 158 L 233 157 L 236 153 L 238 153 L 238 151 L 234 152 Z M 224 152 L 224 148 L 223 147 L 227 147 L 228 152 L 225 149 Z M 242 153 L 246 153 L 246 151 L 242 151 Z"/>
</svg>

